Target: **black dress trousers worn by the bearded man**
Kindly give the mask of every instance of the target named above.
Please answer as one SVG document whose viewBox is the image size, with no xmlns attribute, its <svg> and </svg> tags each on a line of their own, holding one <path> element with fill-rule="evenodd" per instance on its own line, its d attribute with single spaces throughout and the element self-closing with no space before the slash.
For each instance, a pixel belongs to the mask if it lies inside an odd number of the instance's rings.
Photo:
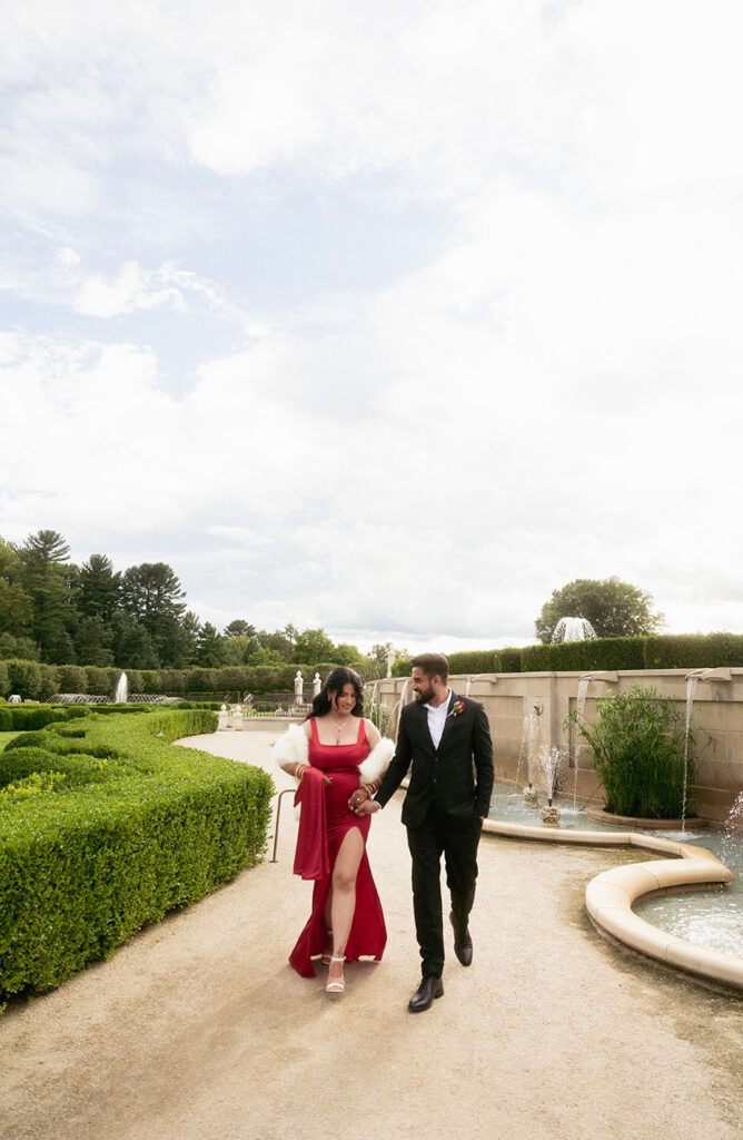
<svg viewBox="0 0 743 1140">
<path fill-rule="evenodd" d="M 467 925 L 475 899 L 479 817 L 452 821 L 432 804 L 418 828 L 408 828 L 413 860 L 413 910 L 423 960 L 423 977 L 440 978 L 443 970 L 443 917 L 441 909 L 441 855 L 457 927 Z"/>
</svg>

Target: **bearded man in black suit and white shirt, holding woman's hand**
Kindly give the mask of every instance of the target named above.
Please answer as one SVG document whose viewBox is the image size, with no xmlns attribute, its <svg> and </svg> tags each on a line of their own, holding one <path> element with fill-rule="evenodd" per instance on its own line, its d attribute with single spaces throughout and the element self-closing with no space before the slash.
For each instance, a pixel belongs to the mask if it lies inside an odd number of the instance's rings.
<svg viewBox="0 0 743 1140">
<path fill-rule="evenodd" d="M 413 909 L 423 960 L 421 985 L 408 1009 L 418 1013 L 443 995 L 442 853 L 451 893 L 455 953 L 463 966 L 472 962 L 467 920 L 475 897 L 477 844 L 490 807 L 493 768 L 485 710 L 451 692 L 446 657 L 422 653 L 411 667 L 415 700 L 402 709 L 386 775 L 373 799 L 360 788 L 351 797 L 351 806 L 358 814 L 381 811 L 413 765 L 402 822 L 413 858 Z"/>
</svg>

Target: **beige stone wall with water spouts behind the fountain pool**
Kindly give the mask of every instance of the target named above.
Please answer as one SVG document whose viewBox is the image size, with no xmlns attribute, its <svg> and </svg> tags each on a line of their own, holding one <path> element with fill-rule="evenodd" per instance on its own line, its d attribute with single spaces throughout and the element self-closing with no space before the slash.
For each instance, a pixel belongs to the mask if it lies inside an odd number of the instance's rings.
<svg viewBox="0 0 743 1140">
<path fill-rule="evenodd" d="M 696 670 L 695 670 L 696 671 Z M 694 694 L 694 728 L 700 741 L 709 744 L 697 763 L 695 783 L 697 812 L 710 820 L 721 821 L 737 793 L 743 790 L 743 669 L 708 670 L 702 674 Z M 501 781 L 525 782 L 522 747 L 524 718 L 533 714 L 538 724 L 539 744 L 557 746 L 568 751 L 570 767 L 564 787 L 572 791 L 578 762 L 578 793 L 582 799 L 602 803 L 602 789 L 591 764 L 591 754 L 582 746 L 575 756 L 575 733 L 566 735 L 563 724 L 578 701 L 579 673 L 511 673 L 488 674 L 470 681 L 470 695 L 485 707 L 493 739 L 496 776 Z M 588 683 L 586 716 L 593 718 L 597 697 L 623 692 L 639 683 L 673 697 L 681 712 L 686 707 L 686 669 L 627 670 L 596 673 Z M 377 697 L 390 709 L 399 703 L 406 682 L 386 678 L 377 682 Z M 467 692 L 467 677 L 452 676 L 455 692 Z M 409 684 L 405 700 L 410 699 Z M 520 767 L 521 756 L 521 771 Z"/>
</svg>

